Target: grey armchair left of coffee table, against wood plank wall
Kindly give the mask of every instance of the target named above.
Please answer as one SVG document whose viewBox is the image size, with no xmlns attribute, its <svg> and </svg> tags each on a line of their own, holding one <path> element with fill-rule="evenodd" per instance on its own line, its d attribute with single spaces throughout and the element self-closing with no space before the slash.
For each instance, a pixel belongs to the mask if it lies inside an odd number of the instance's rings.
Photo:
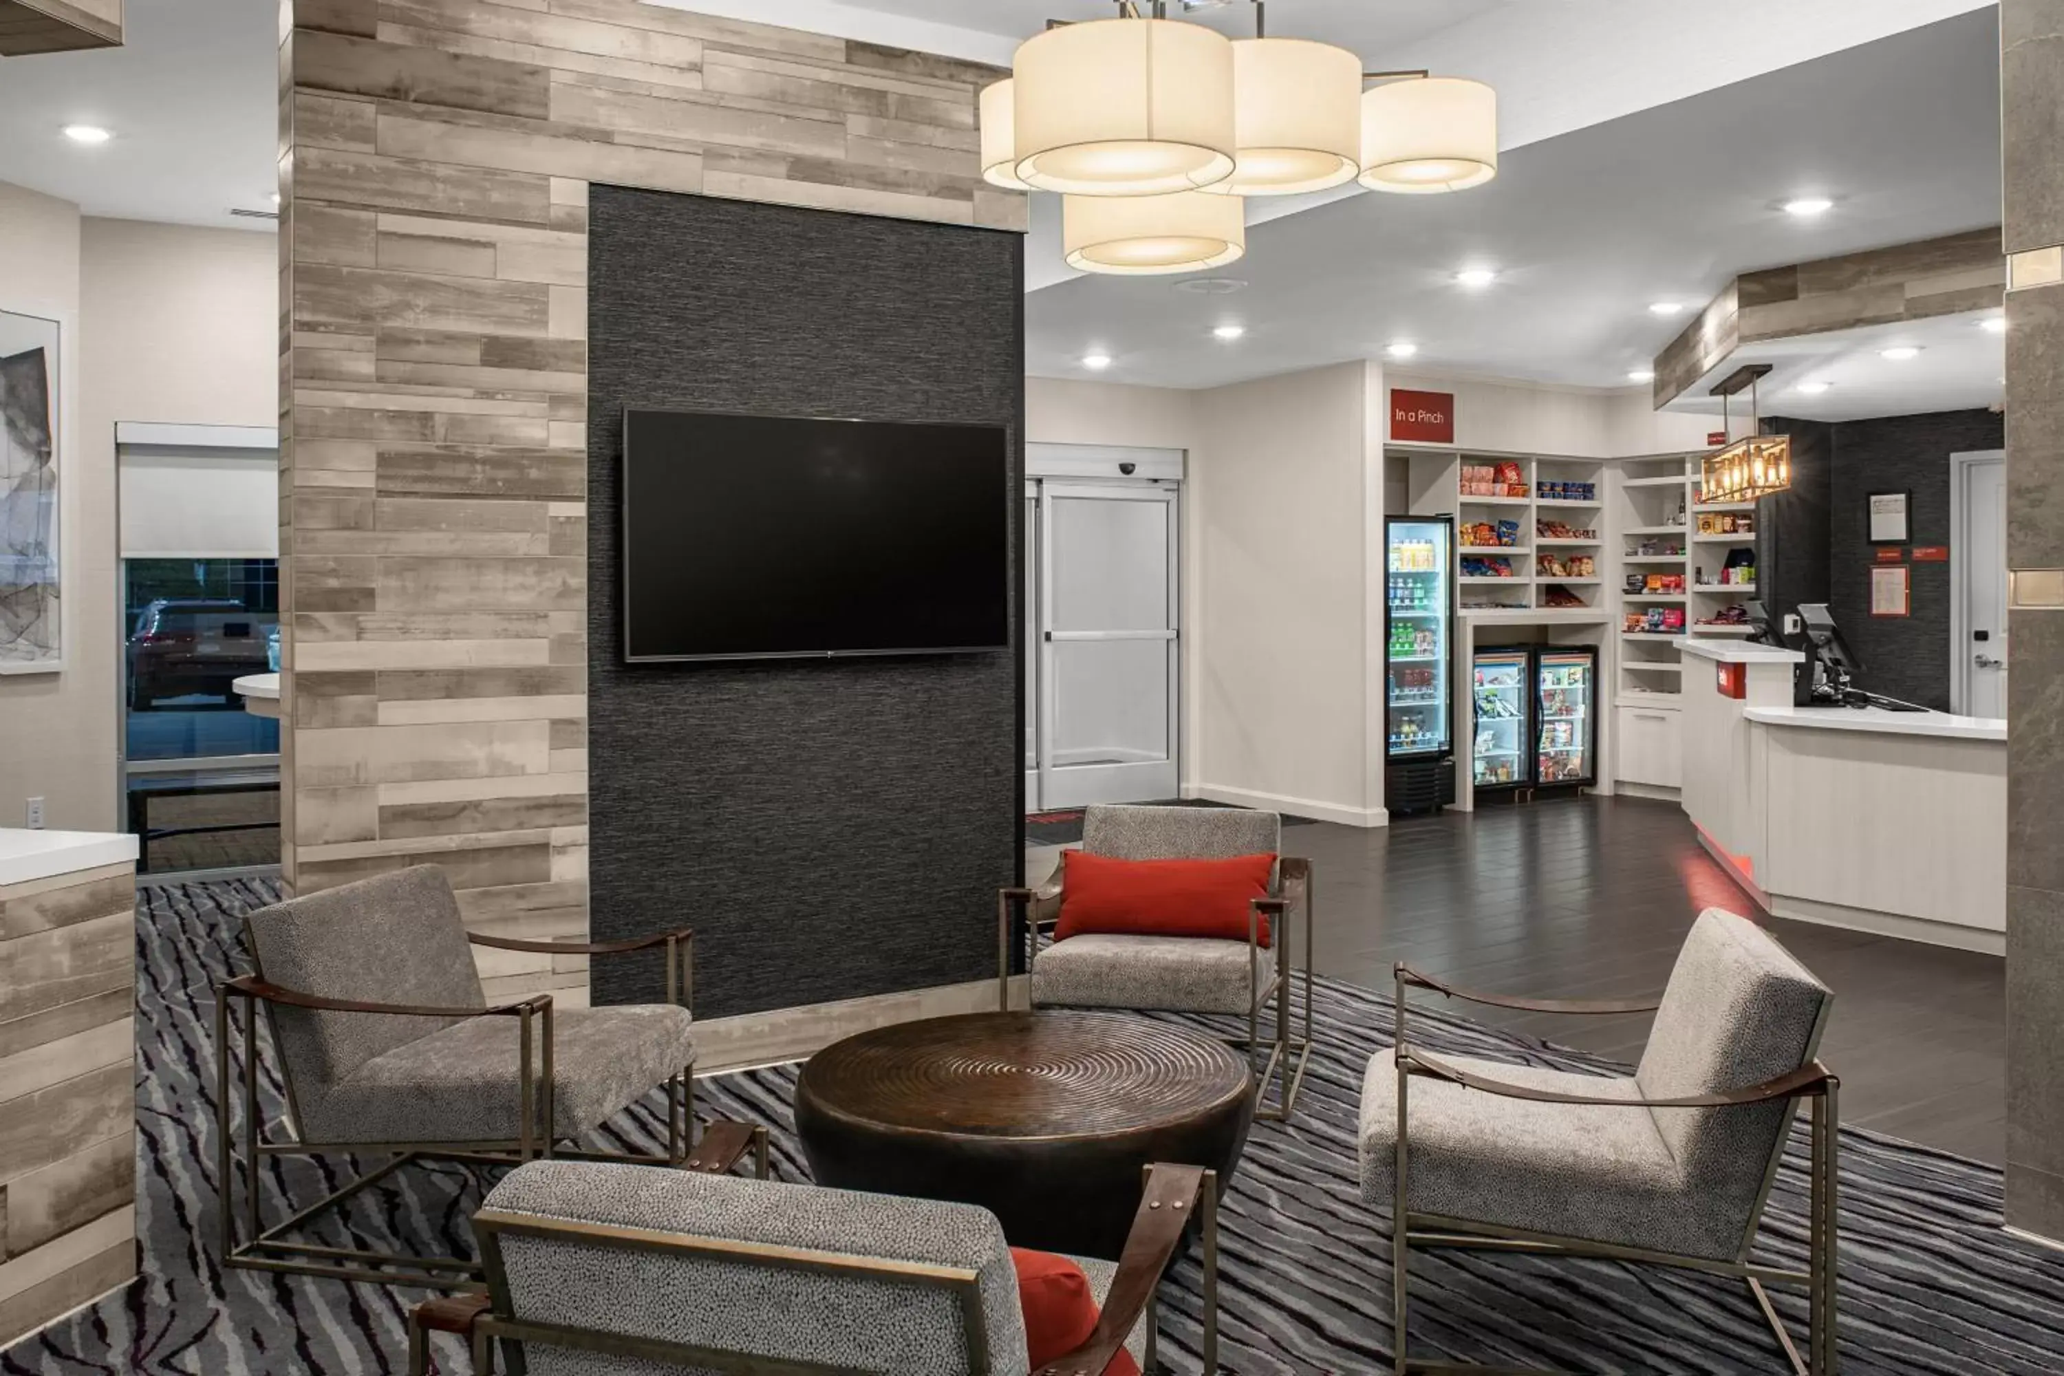
<svg viewBox="0 0 2064 1376">
<path fill-rule="evenodd" d="M 537 1155 L 679 1164 L 691 1147 L 696 1040 L 689 930 L 619 943 L 518 941 L 466 932 L 444 871 L 415 866 L 310 893 L 246 920 L 256 974 L 215 1001 L 221 1248 L 231 1267 L 458 1289 L 479 1263 L 328 1248 L 289 1238 L 316 1215 L 419 1159 L 477 1166 Z M 665 1005 L 555 1009 L 551 994 L 489 1007 L 473 947 L 615 955 L 665 947 Z M 244 1005 L 241 1050 L 231 1005 Z M 287 1141 L 258 1106 L 256 1013 L 264 1009 L 287 1085 Z M 237 1052 L 235 1056 L 231 1052 Z M 241 1069 L 241 1093 L 233 1087 Z M 667 1087 L 667 1153 L 566 1149 L 652 1087 Z M 231 1106 L 241 1097 L 241 1153 Z M 392 1161 L 266 1227 L 258 1170 L 268 1155 L 392 1153 Z M 244 1176 L 244 1236 L 235 1207 Z"/>
</svg>

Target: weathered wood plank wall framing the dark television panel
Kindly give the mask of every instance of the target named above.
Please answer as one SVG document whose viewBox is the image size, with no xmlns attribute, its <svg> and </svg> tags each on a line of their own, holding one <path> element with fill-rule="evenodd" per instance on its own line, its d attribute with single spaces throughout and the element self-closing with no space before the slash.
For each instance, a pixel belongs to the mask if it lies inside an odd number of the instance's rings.
<svg viewBox="0 0 2064 1376">
<path fill-rule="evenodd" d="M 1024 229 L 1001 72 L 638 0 L 295 0 L 281 43 L 283 871 L 436 860 L 588 930 L 588 184 Z M 504 953 L 491 998 L 586 988 Z"/>
</svg>

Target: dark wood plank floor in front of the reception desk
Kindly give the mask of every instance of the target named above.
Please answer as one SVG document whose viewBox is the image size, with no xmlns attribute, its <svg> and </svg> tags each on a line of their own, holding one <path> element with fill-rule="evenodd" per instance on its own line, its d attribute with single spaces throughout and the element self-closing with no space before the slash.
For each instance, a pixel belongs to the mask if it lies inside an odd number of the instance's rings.
<svg viewBox="0 0 2064 1376">
<path fill-rule="evenodd" d="M 1315 823 L 1288 827 L 1284 850 L 1315 866 L 1319 972 L 1385 990 L 1408 959 L 1513 994 L 1649 994 L 1703 908 L 1761 918 L 1674 802 L 1581 796 L 1373 831 Z M 1835 990 L 1820 1054 L 1841 1075 L 1843 1120 L 2000 1164 L 2002 961 L 1763 920 Z M 1626 1062 L 1649 1023 L 1457 1009 Z"/>
</svg>

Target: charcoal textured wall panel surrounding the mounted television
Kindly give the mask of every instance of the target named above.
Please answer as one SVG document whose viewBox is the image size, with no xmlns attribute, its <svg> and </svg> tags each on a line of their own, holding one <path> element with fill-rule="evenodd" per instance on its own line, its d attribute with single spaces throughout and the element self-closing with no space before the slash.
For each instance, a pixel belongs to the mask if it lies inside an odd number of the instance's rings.
<svg viewBox="0 0 2064 1376">
<path fill-rule="evenodd" d="M 1022 567 L 1022 235 L 613 186 L 588 235 L 594 941 L 691 924 L 698 1017 L 991 976 L 1018 654 L 621 664 L 617 466 L 625 404 L 1007 425 Z M 594 963 L 594 1003 L 660 992 Z"/>
</svg>

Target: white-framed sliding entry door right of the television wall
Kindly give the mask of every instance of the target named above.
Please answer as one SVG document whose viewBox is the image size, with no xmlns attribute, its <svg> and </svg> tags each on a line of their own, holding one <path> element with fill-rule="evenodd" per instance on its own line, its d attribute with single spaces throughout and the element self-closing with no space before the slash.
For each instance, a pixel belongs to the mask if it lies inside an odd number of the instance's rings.
<svg viewBox="0 0 2064 1376">
<path fill-rule="evenodd" d="M 1176 796 L 1176 493 L 1032 483 L 1032 811 Z"/>
</svg>

